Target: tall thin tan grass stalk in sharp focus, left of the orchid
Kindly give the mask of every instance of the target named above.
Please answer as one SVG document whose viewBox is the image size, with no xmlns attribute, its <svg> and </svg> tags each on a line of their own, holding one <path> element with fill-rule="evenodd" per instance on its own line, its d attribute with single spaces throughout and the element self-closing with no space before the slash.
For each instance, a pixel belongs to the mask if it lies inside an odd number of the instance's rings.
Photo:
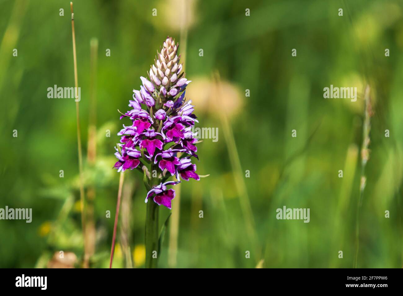
<svg viewBox="0 0 403 296">
<path fill-rule="evenodd" d="M 83 229 L 83 241 L 85 250 L 85 211 L 84 211 L 84 185 L 83 185 L 83 153 L 81 151 L 81 130 L 80 130 L 80 109 L 77 91 L 78 91 L 78 74 L 77 74 L 77 54 L 75 46 L 75 30 L 74 30 L 74 13 L 73 2 L 70 2 L 71 8 L 71 32 L 73 37 L 73 59 L 74 59 L 74 85 L 75 85 L 75 102 L 76 102 L 76 118 L 77 118 L 77 146 L 78 146 L 78 166 L 79 166 L 79 186 L 80 186 L 80 209 L 81 209 L 81 226 Z M 85 253 L 85 251 L 84 251 Z M 84 265 L 84 267 L 87 267 Z"/>
</svg>

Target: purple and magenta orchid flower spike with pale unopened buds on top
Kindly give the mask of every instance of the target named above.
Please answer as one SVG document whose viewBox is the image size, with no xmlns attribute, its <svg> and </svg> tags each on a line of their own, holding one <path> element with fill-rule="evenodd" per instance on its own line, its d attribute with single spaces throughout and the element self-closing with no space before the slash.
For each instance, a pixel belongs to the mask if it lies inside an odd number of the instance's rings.
<svg viewBox="0 0 403 296">
<path fill-rule="evenodd" d="M 118 162 L 114 165 L 118 172 L 123 172 L 137 167 L 145 170 L 145 163 L 150 163 L 151 169 L 157 170 L 160 184 L 147 193 L 145 202 L 154 196 L 154 202 L 169 209 L 175 191 L 167 190 L 166 185 L 176 185 L 180 178 L 200 179 L 196 165 L 191 163 L 192 156 L 198 159 L 197 139 L 192 133 L 192 126 L 198 121 L 192 101 L 185 99 L 185 89 L 191 81 L 184 77 L 178 46 L 168 37 L 157 52 L 148 78 L 140 77 L 140 90 L 133 90 L 133 101 L 129 104 L 133 109 L 120 116 L 120 119 L 129 117 L 132 124 L 123 125 L 118 132 L 121 139 L 115 147 Z M 178 181 L 163 183 L 169 176 Z"/>
</svg>

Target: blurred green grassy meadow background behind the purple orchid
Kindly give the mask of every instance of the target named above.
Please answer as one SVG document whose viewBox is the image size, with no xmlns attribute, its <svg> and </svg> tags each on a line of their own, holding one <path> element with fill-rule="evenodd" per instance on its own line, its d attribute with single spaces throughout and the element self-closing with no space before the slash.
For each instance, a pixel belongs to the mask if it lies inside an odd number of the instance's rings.
<svg viewBox="0 0 403 296">
<path fill-rule="evenodd" d="M 181 184 L 160 267 L 353 267 L 366 84 L 374 116 L 358 267 L 402 267 L 403 1 L 99 0 L 75 1 L 74 13 L 90 267 L 109 265 L 114 145 L 129 123 L 117 109 L 128 110 L 168 35 L 193 81 L 197 126 L 218 128 L 218 141 L 198 145 L 197 172 L 210 176 Z M 33 212 L 32 223 L 0 220 L 0 267 L 80 266 L 75 103 L 47 97 L 74 86 L 69 1 L 1 0 L 0 38 L 0 208 Z M 330 84 L 357 87 L 357 101 L 324 99 Z M 125 173 L 114 267 L 144 266 L 145 193 L 141 174 Z M 277 220 L 283 206 L 310 208 L 310 223 Z M 160 207 L 161 223 L 169 212 Z"/>
</svg>

